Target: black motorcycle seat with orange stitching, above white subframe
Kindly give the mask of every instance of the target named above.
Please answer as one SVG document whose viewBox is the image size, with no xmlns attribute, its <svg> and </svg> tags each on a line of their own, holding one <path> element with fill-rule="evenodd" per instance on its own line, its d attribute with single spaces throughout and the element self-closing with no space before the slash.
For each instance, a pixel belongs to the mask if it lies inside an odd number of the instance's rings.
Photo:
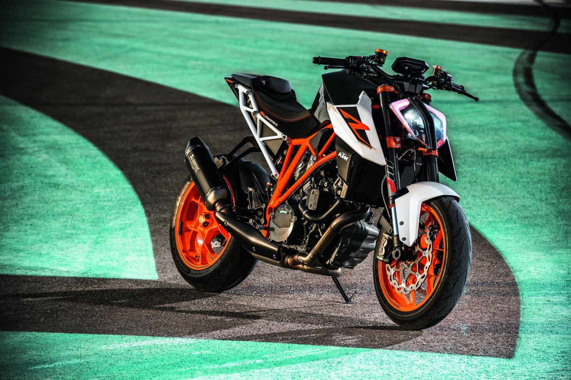
<svg viewBox="0 0 571 380">
<path fill-rule="evenodd" d="M 289 81 L 275 76 L 237 73 L 232 78 L 251 88 L 260 115 L 288 137 L 308 137 L 319 121 L 295 97 Z"/>
</svg>

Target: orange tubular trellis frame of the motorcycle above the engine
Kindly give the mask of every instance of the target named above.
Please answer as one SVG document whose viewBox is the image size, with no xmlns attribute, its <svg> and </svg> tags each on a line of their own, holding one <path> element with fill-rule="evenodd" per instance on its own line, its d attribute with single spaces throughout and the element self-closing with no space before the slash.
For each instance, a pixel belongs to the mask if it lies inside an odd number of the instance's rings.
<svg viewBox="0 0 571 380">
<path fill-rule="evenodd" d="M 292 138 L 291 140 L 288 139 L 287 142 L 288 149 L 286 153 L 286 158 L 284 159 L 282 169 L 280 170 L 278 183 L 276 184 L 276 189 L 274 191 L 274 194 L 272 194 L 272 198 L 270 199 L 270 202 L 266 209 L 266 223 L 265 223 L 266 227 L 270 225 L 270 214 L 273 213 L 274 210 L 277 209 L 283 202 L 285 202 L 286 199 L 289 198 L 289 196 L 293 193 L 293 191 L 297 190 L 299 186 L 301 186 L 301 184 L 305 181 L 305 179 L 307 179 L 307 177 L 309 177 L 309 175 L 313 173 L 315 169 L 317 169 L 317 167 L 325 164 L 325 162 L 327 161 L 333 160 L 333 158 L 337 156 L 337 152 L 335 150 L 333 150 L 333 152 L 329 154 L 325 154 L 329 146 L 331 146 L 332 142 L 335 141 L 335 132 L 331 134 L 331 136 L 327 139 L 327 142 L 325 142 L 325 145 L 323 146 L 323 148 L 319 150 L 319 152 L 316 152 L 313 146 L 311 146 L 310 140 L 313 138 L 313 136 L 315 136 L 317 133 L 321 132 L 321 130 L 324 129 L 333 129 L 333 126 L 331 124 L 328 124 L 323 128 L 321 128 L 320 130 L 318 130 L 317 132 L 313 133 L 309 137 Z M 298 149 L 297 152 L 295 153 L 295 156 L 293 156 L 293 151 L 295 150 L 295 148 Z M 295 171 L 296 167 L 299 165 L 301 158 L 303 158 L 304 153 L 308 149 L 309 152 L 313 154 L 313 156 L 317 157 L 317 161 L 315 161 L 307 171 L 301 174 L 301 177 L 297 178 L 297 181 L 295 181 L 293 185 L 287 187 L 293 175 L 293 172 Z M 268 236 L 268 228 L 264 229 L 264 236 L 266 237 Z"/>
</svg>

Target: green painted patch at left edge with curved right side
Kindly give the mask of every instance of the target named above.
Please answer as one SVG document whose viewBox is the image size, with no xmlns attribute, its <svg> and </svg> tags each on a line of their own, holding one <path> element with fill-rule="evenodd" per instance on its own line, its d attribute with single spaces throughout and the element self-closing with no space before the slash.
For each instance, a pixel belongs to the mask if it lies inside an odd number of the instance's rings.
<svg viewBox="0 0 571 380">
<path fill-rule="evenodd" d="M 0 273 L 156 279 L 123 173 L 58 122 L 0 97 Z"/>
</svg>

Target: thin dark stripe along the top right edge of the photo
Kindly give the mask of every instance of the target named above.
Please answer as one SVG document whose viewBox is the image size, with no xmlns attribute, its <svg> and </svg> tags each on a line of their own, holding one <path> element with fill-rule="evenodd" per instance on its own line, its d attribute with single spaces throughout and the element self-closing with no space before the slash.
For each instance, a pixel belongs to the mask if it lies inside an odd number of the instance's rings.
<svg viewBox="0 0 571 380">
<path fill-rule="evenodd" d="M 437 9 L 470 13 L 505 14 L 522 16 L 549 16 L 549 12 L 540 6 L 517 3 L 488 3 L 474 1 L 447 1 L 447 0 L 312 0 L 332 1 L 338 3 L 368 4 L 371 6 L 384 5 L 396 7 L 411 7 L 423 9 Z M 554 5 L 555 6 L 555 5 Z M 571 9 L 558 7 L 561 18 L 570 18 Z"/>
</svg>

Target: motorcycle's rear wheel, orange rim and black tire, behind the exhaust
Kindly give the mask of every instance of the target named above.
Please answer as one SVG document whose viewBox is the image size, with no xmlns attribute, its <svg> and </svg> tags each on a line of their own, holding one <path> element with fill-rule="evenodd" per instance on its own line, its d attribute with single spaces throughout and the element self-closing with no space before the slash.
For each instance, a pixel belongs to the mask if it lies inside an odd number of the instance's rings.
<svg viewBox="0 0 571 380">
<path fill-rule="evenodd" d="M 231 188 L 230 183 L 227 181 Z M 235 195 L 232 193 L 232 201 Z M 180 275 L 205 292 L 222 292 L 241 283 L 258 260 L 228 234 L 206 209 L 192 178 L 180 188 L 172 210 L 172 258 Z"/>
</svg>

